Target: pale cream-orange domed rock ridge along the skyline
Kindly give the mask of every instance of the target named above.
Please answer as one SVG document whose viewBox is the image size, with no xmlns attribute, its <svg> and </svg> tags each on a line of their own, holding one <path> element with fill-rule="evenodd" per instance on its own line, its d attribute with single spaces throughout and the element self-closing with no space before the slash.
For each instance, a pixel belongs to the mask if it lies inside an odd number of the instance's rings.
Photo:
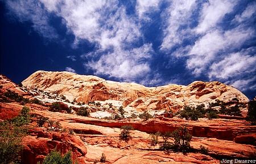
<svg viewBox="0 0 256 164">
<path fill-rule="evenodd" d="M 199 105 L 215 100 L 230 101 L 237 97 L 240 102 L 249 101 L 239 90 L 218 81 L 194 81 L 188 86 L 165 85 L 144 87 L 135 83 L 119 83 L 97 76 L 77 75 L 71 72 L 37 71 L 22 84 L 63 94 L 70 101 L 78 102 L 119 100 L 124 106 L 138 110 L 177 111 L 184 105 Z"/>
</svg>

